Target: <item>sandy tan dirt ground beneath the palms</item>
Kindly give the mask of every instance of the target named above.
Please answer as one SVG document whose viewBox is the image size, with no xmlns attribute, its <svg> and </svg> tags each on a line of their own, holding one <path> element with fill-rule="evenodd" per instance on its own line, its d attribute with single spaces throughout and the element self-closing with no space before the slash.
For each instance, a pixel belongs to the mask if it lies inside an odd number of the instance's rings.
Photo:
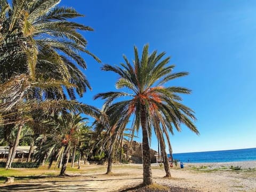
<svg viewBox="0 0 256 192">
<path fill-rule="evenodd" d="M 129 191 L 127 189 L 142 183 L 142 165 L 140 164 L 113 165 L 111 175 L 105 174 L 106 166 L 102 165 L 86 165 L 82 169 L 85 172 L 75 175 L 68 173 L 69 177 L 46 176 L 19 180 L 8 185 L 1 184 L 0 191 Z M 152 171 L 155 183 L 184 188 L 179 191 L 256 192 L 255 168 L 235 171 L 227 170 L 225 165 L 219 165 L 219 168 L 216 168 L 209 164 L 185 164 L 184 169 L 179 167 L 171 169 L 171 179 L 164 178 L 164 169 L 159 165 L 153 165 Z"/>
</svg>

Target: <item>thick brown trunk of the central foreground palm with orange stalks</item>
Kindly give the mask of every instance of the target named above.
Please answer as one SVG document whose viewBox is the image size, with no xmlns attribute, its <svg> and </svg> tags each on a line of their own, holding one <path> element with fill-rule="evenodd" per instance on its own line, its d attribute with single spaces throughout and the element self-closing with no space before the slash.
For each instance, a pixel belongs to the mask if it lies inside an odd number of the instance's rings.
<svg viewBox="0 0 256 192">
<path fill-rule="evenodd" d="M 141 110 L 141 127 L 142 127 L 142 159 L 143 159 L 143 185 L 150 185 L 153 183 L 151 162 L 150 162 L 150 148 L 148 142 L 146 111 Z"/>
</svg>

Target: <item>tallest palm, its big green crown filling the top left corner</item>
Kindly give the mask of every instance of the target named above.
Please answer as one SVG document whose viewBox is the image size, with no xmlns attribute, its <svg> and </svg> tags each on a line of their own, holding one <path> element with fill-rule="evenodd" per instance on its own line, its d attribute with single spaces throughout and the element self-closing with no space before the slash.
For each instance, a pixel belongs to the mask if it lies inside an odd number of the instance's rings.
<svg viewBox="0 0 256 192">
<path fill-rule="evenodd" d="M 0 83 L 9 83 L 13 75 L 19 81 L 26 74 L 31 83 L 41 82 L 43 85 L 50 82 L 53 85 L 59 82 L 61 85 L 47 86 L 46 89 L 44 85 L 34 86 L 30 94 L 26 94 L 26 100 L 66 99 L 66 92 L 74 100 L 75 92 L 81 97 L 87 88 L 91 89 L 78 68 L 87 67 L 79 53 L 100 60 L 86 50 L 86 39 L 77 30 L 91 31 L 92 28 L 68 21 L 83 15 L 72 8 L 59 7 L 59 3 L 60 0 L 13 0 L 11 4 L 7 0 L 0 1 Z M 7 95 L 8 100 L 15 99 L 13 88 Z M 6 97 L 1 101 L 5 100 Z M 7 109 L 16 105 L 9 104 Z M 9 113 L 7 109 L 5 113 Z M 25 125 L 20 119 L 16 119 L 16 123 L 19 123 L 19 129 L 14 151 Z"/>
</svg>

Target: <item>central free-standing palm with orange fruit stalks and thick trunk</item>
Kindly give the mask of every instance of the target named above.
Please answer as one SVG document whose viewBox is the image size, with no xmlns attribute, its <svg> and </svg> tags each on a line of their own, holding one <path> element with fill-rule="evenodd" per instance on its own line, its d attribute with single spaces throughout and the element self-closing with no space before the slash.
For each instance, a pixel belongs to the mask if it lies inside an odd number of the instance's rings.
<svg viewBox="0 0 256 192">
<path fill-rule="evenodd" d="M 137 47 L 134 46 L 133 65 L 124 56 L 125 63 L 121 67 L 104 65 L 103 70 L 113 71 L 120 77 L 116 88 L 126 88 L 126 92 L 107 92 L 95 95 L 95 99 L 106 99 L 105 106 L 111 105 L 109 111 L 116 119 L 127 123 L 132 115 L 135 116 L 133 129 L 142 129 L 142 156 L 143 156 L 143 185 L 153 183 L 150 163 L 149 139 L 153 122 L 159 121 L 163 131 L 173 133 L 173 126 L 181 131 L 183 123 L 192 131 L 198 133 L 191 120 L 195 119 L 193 110 L 180 103 L 180 93 L 189 94 L 191 91 L 184 87 L 166 86 L 172 79 L 186 76 L 188 73 L 172 73 L 174 65 L 167 66 L 170 57 L 163 60 L 165 53 L 157 55 L 157 51 L 149 54 L 148 45 L 143 47 L 142 57 L 139 58 Z M 125 98 L 128 99 L 125 99 Z"/>
</svg>

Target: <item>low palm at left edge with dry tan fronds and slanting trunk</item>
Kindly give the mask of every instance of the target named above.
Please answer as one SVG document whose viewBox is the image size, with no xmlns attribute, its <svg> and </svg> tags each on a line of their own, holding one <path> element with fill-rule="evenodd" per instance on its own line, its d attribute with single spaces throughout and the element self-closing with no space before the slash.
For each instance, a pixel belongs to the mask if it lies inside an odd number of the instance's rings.
<svg viewBox="0 0 256 192">
<path fill-rule="evenodd" d="M 90 115 L 98 121 L 105 121 L 105 115 L 101 111 L 93 106 L 85 105 L 74 100 L 51 100 L 46 99 L 43 101 L 38 101 L 37 99 L 27 99 L 27 95 L 34 89 L 34 87 L 44 87 L 47 86 L 61 86 L 62 83 L 51 82 L 51 83 L 39 83 L 31 82 L 27 75 L 19 75 L 9 79 L 6 83 L 0 84 L 0 126 L 2 125 L 12 125 L 12 124 L 25 124 L 34 123 L 34 118 L 31 118 L 31 114 L 35 116 L 50 116 L 51 114 L 58 114 L 63 110 L 82 112 L 86 115 Z M 67 84 L 68 85 L 68 84 Z M 19 118 L 15 118 L 19 116 Z M 18 146 L 19 137 L 22 127 L 18 127 L 17 137 L 13 144 L 13 148 Z M 13 151 L 15 151 L 13 149 Z M 13 153 L 15 154 L 15 153 Z M 11 157 L 13 159 L 13 157 Z M 11 163 L 10 163 L 11 165 Z M 8 166 L 10 167 L 10 166 Z"/>
</svg>

